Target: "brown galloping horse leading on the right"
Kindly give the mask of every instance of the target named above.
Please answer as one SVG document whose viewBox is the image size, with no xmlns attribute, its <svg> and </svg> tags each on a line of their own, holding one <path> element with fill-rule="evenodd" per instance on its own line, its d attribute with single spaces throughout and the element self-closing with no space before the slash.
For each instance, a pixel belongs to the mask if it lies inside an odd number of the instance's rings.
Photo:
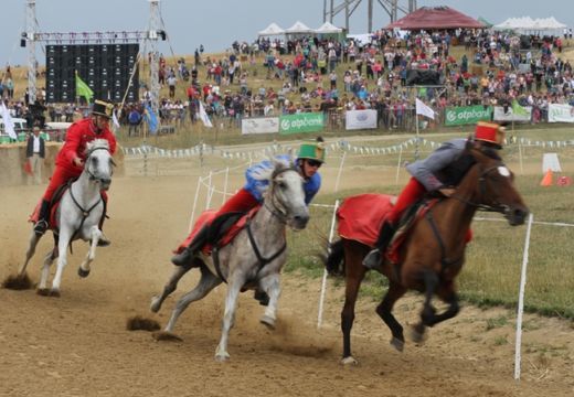
<svg viewBox="0 0 574 397">
<path fill-rule="evenodd" d="M 413 339 L 422 341 L 426 326 L 454 318 L 459 311 L 455 278 L 465 262 L 466 234 L 477 210 L 499 212 L 512 226 L 524 223 L 529 210 L 514 187 L 513 174 L 501 159 L 488 150 L 467 146 L 475 159 L 455 193 L 443 198 L 414 222 L 398 248 L 398 264 L 383 260 L 380 271 L 389 279 L 389 290 L 376 313 L 391 329 L 391 344 L 404 347 L 403 326 L 392 314 L 394 303 L 410 289 L 425 294 L 421 322 L 413 328 Z M 352 219 L 349 219 L 352 222 Z M 346 300 L 341 312 L 343 364 L 357 364 L 351 355 L 351 328 L 359 287 L 368 268 L 362 260 L 372 247 L 341 238 L 330 246 L 325 259 L 331 275 L 344 275 Z M 343 260 L 344 259 L 344 260 Z M 437 314 L 431 300 L 436 294 L 448 308 Z"/>
</svg>

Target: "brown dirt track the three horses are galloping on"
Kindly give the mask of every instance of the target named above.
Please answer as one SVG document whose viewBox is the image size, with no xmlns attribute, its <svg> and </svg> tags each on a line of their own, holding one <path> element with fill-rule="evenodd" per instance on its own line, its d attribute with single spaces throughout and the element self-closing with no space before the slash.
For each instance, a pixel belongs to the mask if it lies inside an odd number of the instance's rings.
<svg viewBox="0 0 574 397">
<path fill-rule="evenodd" d="M 364 182 L 364 172 L 360 180 Z M 228 363 L 213 360 L 220 337 L 225 288 L 192 304 L 176 332 L 183 342 L 156 342 L 148 332 L 126 331 L 141 314 L 166 324 L 173 303 L 195 280 L 182 280 L 176 299 L 151 315 L 150 297 L 171 265 L 170 249 L 188 227 L 195 180 L 117 178 L 106 225 L 113 246 L 99 249 L 87 279 L 76 269 L 85 247 L 76 244 L 62 282 L 62 298 L 33 290 L 0 289 L 1 396 L 572 396 L 572 323 L 527 316 L 522 380 L 513 374 L 513 321 L 488 330 L 487 321 L 513 319 L 502 309 L 465 307 L 437 325 L 422 346 L 404 353 L 387 343 L 390 332 L 375 302 L 357 310 L 353 351 L 359 366 L 342 367 L 339 312 L 342 287 L 329 283 L 325 323 L 317 331 L 320 280 L 284 278 L 278 330 L 258 323 L 262 308 L 243 294 L 230 337 Z M 2 187 L 0 280 L 23 259 L 30 225 L 25 218 L 39 186 Z M 41 242 L 29 268 L 39 279 Z M 398 302 L 404 324 L 419 310 L 415 297 Z M 487 331 L 488 330 L 488 331 Z"/>
</svg>

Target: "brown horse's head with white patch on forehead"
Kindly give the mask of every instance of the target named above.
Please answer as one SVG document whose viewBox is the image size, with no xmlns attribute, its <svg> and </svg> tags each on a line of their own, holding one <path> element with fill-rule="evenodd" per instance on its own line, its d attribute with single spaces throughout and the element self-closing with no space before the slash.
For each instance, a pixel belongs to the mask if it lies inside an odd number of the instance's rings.
<svg viewBox="0 0 574 397">
<path fill-rule="evenodd" d="M 514 174 L 492 149 L 469 149 L 478 172 L 476 200 L 486 210 L 504 215 L 511 226 L 522 225 L 529 210 L 514 186 Z"/>
</svg>

